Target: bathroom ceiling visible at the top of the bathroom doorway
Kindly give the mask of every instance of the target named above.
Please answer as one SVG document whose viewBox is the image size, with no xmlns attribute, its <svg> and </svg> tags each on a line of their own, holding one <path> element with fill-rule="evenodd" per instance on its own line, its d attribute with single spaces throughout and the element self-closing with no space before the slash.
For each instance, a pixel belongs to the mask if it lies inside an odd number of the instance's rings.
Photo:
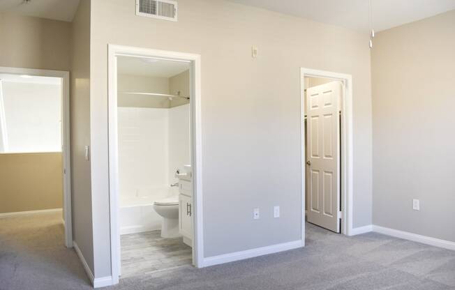
<svg viewBox="0 0 455 290">
<path fill-rule="evenodd" d="M 183 61 L 167 61 L 158 59 L 141 59 L 139 57 L 119 56 L 117 73 L 120 75 L 140 75 L 144 77 L 173 77 L 190 68 Z"/>
</svg>

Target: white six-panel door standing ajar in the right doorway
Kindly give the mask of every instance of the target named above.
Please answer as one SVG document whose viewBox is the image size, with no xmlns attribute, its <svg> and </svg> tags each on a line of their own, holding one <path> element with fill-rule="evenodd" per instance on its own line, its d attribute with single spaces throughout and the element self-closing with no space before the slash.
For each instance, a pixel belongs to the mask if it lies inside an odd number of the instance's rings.
<svg viewBox="0 0 455 290">
<path fill-rule="evenodd" d="M 306 90 L 308 222 L 339 232 L 341 82 Z"/>
</svg>

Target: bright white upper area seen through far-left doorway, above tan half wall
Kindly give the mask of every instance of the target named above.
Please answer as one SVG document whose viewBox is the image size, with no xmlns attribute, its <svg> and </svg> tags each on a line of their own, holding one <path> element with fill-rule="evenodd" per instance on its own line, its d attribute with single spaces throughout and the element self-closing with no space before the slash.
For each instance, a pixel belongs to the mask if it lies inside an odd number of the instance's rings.
<svg viewBox="0 0 455 290">
<path fill-rule="evenodd" d="M 60 152 L 61 84 L 2 83 L 7 152 Z"/>
</svg>

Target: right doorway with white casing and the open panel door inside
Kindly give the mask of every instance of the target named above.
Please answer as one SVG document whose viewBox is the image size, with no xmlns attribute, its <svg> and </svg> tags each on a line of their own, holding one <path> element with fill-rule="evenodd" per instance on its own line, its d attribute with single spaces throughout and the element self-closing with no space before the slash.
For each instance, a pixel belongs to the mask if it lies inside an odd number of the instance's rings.
<svg viewBox="0 0 455 290">
<path fill-rule="evenodd" d="M 352 234 L 352 77 L 301 68 L 302 240 L 306 222 Z"/>
</svg>

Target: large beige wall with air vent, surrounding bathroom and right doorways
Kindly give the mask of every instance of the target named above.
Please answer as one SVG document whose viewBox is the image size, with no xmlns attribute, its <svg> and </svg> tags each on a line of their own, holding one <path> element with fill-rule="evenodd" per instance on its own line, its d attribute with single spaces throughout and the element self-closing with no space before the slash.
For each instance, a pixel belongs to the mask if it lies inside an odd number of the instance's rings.
<svg viewBox="0 0 455 290">
<path fill-rule="evenodd" d="M 179 1 L 178 22 L 137 17 L 134 6 L 134 0 L 92 2 L 91 77 L 96 82 L 91 84 L 91 174 L 96 277 L 110 275 L 109 43 L 202 57 L 205 257 L 301 238 L 300 67 L 352 74 L 353 222 L 355 227 L 371 224 L 367 33 L 227 1 Z M 258 47 L 257 59 L 251 58 L 251 45 Z M 278 219 L 273 217 L 276 205 L 281 206 Z M 252 218 L 255 207 L 260 208 L 260 220 Z"/>
</svg>

